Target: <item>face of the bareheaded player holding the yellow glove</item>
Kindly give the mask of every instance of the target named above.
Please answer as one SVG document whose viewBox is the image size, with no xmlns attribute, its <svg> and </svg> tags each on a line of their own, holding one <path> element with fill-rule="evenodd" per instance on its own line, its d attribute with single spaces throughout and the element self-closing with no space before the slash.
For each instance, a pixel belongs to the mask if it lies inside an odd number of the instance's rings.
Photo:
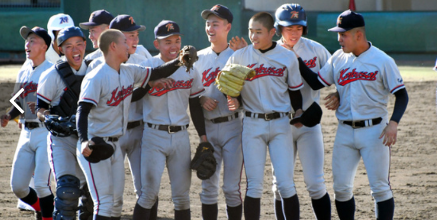
<svg viewBox="0 0 437 220">
<path fill-rule="evenodd" d="M 271 47 L 274 33 L 274 28 L 268 30 L 258 21 L 249 21 L 249 39 L 254 49 L 266 50 Z"/>
</svg>

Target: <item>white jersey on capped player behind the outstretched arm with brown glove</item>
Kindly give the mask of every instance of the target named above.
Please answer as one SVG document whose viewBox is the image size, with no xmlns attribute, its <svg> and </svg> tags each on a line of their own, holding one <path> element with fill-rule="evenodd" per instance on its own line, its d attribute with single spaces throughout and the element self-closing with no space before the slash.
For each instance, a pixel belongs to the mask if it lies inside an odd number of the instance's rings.
<svg viewBox="0 0 437 220">
<path fill-rule="evenodd" d="M 147 59 L 145 66 L 157 67 L 164 64 L 159 56 Z M 204 93 L 200 74 L 196 70 L 177 69 L 171 76 L 175 80 L 172 88 L 158 89 L 153 87 L 144 96 L 143 121 L 157 125 L 184 126 L 190 123 L 187 114 L 188 98 Z M 173 92 L 174 91 L 174 92 Z"/>
</svg>

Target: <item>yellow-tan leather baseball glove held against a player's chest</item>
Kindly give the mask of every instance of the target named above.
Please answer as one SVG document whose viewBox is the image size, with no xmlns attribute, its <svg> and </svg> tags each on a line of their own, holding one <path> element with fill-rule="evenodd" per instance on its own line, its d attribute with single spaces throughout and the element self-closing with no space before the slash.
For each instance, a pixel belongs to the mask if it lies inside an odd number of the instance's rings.
<svg viewBox="0 0 437 220">
<path fill-rule="evenodd" d="M 226 65 L 218 72 L 215 85 L 221 92 L 238 97 L 243 89 L 244 81 L 255 76 L 255 70 L 239 64 Z"/>
</svg>

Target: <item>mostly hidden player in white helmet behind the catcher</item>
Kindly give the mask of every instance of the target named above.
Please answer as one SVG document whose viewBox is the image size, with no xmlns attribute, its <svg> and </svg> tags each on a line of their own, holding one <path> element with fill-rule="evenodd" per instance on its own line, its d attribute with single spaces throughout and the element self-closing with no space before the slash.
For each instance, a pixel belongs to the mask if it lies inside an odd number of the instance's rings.
<svg viewBox="0 0 437 220">
<path fill-rule="evenodd" d="M 50 17 L 49 22 L 47 22 L 47 31 L 52 38 L 52 43 L 46 52 L 46 59 L 51 63 L 55 64 L 59 59 L 63 59 L 64 55 L 59 52 L 57 45 L 57 33 L 59 30 L 74 26 L 73 19 L 68 14 L 59 13 Z"/>
</svg>

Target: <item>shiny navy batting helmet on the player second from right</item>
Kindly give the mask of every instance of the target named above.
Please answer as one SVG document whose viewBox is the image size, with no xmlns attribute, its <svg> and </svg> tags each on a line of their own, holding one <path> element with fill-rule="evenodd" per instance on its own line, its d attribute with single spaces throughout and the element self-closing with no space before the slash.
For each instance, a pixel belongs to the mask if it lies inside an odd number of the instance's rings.
<svg viewBox="0 0 437 220">
<path fill-rule="evenodd" d="M 301 25 L 304 27 L 302 35 L 308 34 L 307 14 L 299 4 L 284 4 L 276 9 L 274 27 L 276 34 L 281 36 L 281 26 Z"/>
</svg>

